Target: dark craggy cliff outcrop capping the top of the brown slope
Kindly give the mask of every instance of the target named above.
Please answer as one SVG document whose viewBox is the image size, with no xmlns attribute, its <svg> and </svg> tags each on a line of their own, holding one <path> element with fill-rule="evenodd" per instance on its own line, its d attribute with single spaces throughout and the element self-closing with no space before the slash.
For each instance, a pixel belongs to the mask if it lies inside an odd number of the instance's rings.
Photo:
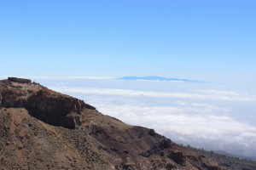
<svg viewBox="0 0 256 170">
<path fill-rule="evenodd" d="M 9 77 L 0 84 L 0 107 L 26 108 L 32 116 L 49 124 L 74 128 L 81 124 L 81 111 L 95 110 L 83 100 L 56 93 L 28 79 Z"/>
</svg>

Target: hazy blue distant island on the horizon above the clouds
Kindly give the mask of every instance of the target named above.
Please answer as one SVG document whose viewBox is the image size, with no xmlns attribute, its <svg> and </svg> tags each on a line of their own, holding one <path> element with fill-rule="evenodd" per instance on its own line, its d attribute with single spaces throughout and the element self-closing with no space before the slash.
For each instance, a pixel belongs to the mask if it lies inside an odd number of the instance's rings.
<svg viewBox="0 0 256 170">
<path fill-rule="evenodd" d="M 202 82 L 198 80 L 180 79 L 180 78 L 167 78 L 167 77 L 120 77 L 119 80 L 131 80 L 131 81 L 166 81 L 166 82 Z"/>
</svg>

